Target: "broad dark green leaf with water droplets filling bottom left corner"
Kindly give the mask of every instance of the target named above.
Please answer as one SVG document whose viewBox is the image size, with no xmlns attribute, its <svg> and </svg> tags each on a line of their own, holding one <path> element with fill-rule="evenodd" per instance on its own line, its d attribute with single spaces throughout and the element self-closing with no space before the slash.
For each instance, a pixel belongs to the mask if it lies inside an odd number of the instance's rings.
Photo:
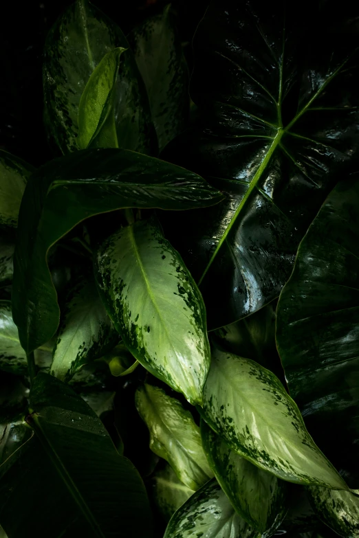
<svg viewBox="0 0 359 538">
<path fill-rule="evenodd" d="M 10 538 L 151 537 L 140 475 L 80 396 L 40 373 L 30 405 L 35 435 L 0 468 L 0 519 Z"/>
</svg>

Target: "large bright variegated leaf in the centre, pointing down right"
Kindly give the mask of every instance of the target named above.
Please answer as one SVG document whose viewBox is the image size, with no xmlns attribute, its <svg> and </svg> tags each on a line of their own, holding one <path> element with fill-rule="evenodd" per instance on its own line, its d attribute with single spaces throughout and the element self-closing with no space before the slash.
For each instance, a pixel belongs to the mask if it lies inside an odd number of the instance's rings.
<svg viewBox="0 0 359 538">
<path fill-rule="evenodd" d="M 190 403 L 202 403 L 210 366 L 206 310 L 156 221 L 139 221 L 110 236 L 95 265 L 102 300 L 132 355 Z"/>
</svg>

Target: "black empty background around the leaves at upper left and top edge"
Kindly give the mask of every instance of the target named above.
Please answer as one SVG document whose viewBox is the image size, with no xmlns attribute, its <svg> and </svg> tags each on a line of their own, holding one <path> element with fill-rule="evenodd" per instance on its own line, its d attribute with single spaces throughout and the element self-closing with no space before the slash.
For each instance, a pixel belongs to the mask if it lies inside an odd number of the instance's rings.
<svg viewBox="0 0 359 538">
<path fill-rule="evenodd" d="M 53 157 L 43 128 L 42 54 L 48 30 L 72 0 L 7 0 L 1 5 L 0 148 L 40 166 Z M 127 35 L 168 0 L 94 0 Z M 190 70 L 191 41 L 208 0 L 173 0 Z"/>
</svg>

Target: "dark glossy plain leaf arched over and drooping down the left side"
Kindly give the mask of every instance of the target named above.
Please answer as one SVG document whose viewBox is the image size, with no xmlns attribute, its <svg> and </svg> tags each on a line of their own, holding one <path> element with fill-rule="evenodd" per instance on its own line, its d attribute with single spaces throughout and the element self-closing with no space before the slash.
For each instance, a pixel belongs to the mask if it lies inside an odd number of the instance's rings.
<svg viewBox="0 0 359 538">
<path fill-rule="evenodd" d="M 14 254 L 12 311 L 23 348 L 30 352 L 56 332 L 60 312 L 46 256 L 76 224 L 121 208 L 188 209 L 221 199 L 192 172 L 129 150 L 81 150 L 45 164 L 26 187 Z"/>
</svg>

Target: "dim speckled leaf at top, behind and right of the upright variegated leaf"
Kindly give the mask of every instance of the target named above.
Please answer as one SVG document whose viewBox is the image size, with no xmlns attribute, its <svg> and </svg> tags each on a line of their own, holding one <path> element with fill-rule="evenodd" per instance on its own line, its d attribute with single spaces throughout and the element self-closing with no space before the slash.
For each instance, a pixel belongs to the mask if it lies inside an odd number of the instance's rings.
<svg viewBox="0 0 359 538">
<path fill-rule="evenodd" d="M 189 115 L 188 67 L 171 4 L 129 34 L 146 85 L 160 150 L 184 130 Z"/>
</svg>

